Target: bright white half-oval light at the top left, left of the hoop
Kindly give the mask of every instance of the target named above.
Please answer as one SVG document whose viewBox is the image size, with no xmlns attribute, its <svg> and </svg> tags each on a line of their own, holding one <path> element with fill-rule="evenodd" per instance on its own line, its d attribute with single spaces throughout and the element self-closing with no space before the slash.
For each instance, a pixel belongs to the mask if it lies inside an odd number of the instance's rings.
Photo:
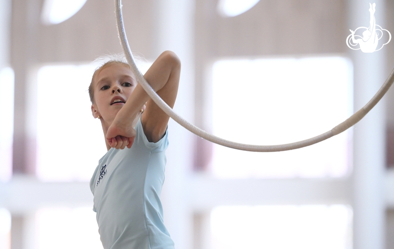
<svg viewBox="0 0 394 249">
<path fill-rule="evenodd" d="M 41 21 L 45 25 L 58 24 L 75 15 L 86 0 L 45 0 Z"/>
</svg>

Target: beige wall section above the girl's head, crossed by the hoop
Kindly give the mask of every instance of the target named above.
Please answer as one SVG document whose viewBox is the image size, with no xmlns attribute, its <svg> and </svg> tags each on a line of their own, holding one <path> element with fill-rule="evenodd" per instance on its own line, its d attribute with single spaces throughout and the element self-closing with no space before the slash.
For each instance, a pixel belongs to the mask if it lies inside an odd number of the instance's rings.
<svg viewBox="0 0 394 249">
<path fill-rule="evenodd" d="M 120 53 L 112 0 L 88 0 L 70 19 L 39 27 L 39 61 L 91 61 L 98 55 Z M 153 1 L 123 1 L 123 18 L 130 47 L 151 58 L 154 43 Z"/>
</svg>

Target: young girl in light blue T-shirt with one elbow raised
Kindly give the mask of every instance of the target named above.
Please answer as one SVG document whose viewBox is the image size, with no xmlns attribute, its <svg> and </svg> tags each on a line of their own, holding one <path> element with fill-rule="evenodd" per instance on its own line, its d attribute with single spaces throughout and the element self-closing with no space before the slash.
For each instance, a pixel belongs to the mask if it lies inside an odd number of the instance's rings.
<svg viewBox="0 0 394 249">
<path fill-rule="evenodd" d="M 179 75 L 178 57 L 166 51 L 144 77 L 173 107 Z M 89 95 L 92 115 L 101 121 L 108 149 L 90 180 L 104 248 L 174 248 L 160 201 L 169 116 L 137 84 L 122 61 L 111 60 L 96 69 Z"/>
</svg>

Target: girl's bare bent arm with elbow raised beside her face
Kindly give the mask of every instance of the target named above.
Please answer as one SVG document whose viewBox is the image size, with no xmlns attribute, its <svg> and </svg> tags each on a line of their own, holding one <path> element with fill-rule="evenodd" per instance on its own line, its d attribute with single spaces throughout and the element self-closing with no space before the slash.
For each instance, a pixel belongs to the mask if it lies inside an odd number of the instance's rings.
<svg viewBox="0 0 394 249">
<path fill-rule="evenodd" d="M 175 104 L 178 93 L 179 76 L 180 60 L 171 51 L 163 52 L 144 75 L 152 88 L 171 108 Z M 106 139 L 111 147 L 116 147 L 111 143 L 111 139 L 116 136 L 128 138 L 127 147 L 131 147 L 134 140 L 130 137 L 133 136 L 131 123 L 145 103 L 146 108 L 141 121 L 146 138 L 150 142 L 158 142 L 163 137 L 167 129 L 169 116 L 156 105 L 138 84 L 108 129 Z"/>
</svg>

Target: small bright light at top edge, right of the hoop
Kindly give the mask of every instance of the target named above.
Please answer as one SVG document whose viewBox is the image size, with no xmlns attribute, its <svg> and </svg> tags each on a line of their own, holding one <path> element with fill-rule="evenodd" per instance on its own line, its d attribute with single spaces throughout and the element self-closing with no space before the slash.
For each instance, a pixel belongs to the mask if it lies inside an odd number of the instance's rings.
<svg viewBox="0 0 394 249">
<path fill-rule="evenodd" d="M 238 16 L 252 9 L 260 0 L 219 0 L 218 13 L 223 17 Z"/>
</svg>

